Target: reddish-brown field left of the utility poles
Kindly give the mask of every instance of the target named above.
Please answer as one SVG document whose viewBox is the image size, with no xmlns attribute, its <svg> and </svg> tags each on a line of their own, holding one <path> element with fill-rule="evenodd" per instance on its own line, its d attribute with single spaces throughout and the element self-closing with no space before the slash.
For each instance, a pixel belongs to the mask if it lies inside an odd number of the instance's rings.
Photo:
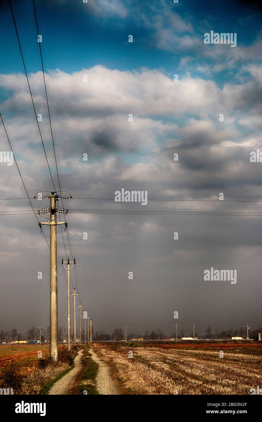
<svg viewBox="0 0 262 422">
<path fill-rule="evenodd" d="M 0 346 L 0 371 L 10 365 L 17 365 L 21 375 L 26 375 L 37 368 L 37 354 L 42 351 L 42 356 L 49 353 L 47 344 L 14 344 Z"/>
</svg>

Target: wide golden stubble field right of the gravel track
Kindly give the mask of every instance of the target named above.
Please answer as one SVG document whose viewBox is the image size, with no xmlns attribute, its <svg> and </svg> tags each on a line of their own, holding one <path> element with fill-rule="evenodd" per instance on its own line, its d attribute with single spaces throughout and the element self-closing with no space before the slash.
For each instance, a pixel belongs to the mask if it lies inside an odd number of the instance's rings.
<svg viewBox="0 0 262 422">
<path fill-rule="evenodd" d="M 261 343 L 94 347 L 131 394 L 249 395 L 251 388 L 262 385 Z"/>
</svg>

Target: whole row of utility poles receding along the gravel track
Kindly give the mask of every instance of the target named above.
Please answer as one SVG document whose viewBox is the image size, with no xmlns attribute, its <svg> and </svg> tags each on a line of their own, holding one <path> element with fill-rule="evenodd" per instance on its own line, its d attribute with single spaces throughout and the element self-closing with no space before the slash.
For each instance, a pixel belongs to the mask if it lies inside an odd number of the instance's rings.
<svg viewBox="0 0 262 422">
<path fill-rule="evenodd" d="M 61 193 L 61 192 L 60 192 Z M 39 194 L 40 195 L 40 194 Z M 41 197 L 38 195 L 38 199 L 43 199 L 44 197 L 41 194 Z M 58 358 L 58 310 L 57 310 L 57 237 L 56 237 L 56 226 L 64 224 L 67 228 L 66 221 L 58 222 L 56 220 L 56 213 L 66 214 L 68 210 L 64 208 L 56 208 L 56 201 L 61 199 L 68 199 L 68 196 L 60 196 L 55 192 L 51 192 L 51 195 L 46 195 L 45 197 L 50 198 L 50 208 L 42 208 L 38 210 L 38 214 L 48 214 L 50 212 L 50 221 L 39 223 L 40 229 L 42 225 L 50 226 L 50 357 L 53 357 L 55 360 Z M 36 198 L 36 196 L 34 197 Z M 68 335 L 68 349 L 71 349 L 71 325 L 70 325 L 70 296 L 74 296 L 74 345 L 77 343 L 76 338 L 76 302 L 75 298 L 79 293 L 75 292 L 70 293 L 70 270 L 75 265 L 74 261 L 67 261 L 67 268 L 64 265 L 64 260 L 62 259 L 62 264 L 67 269 L 67 335 Z M 70 267 L 70 264 L 71 267 Z M 82 311 L 83 306 L 78 305 L 80 311 L 80 346 L 82 345 L 82 331 L 81 331 L 81 321 L 82 321 Z M 87 314 L 86 311 L 83 312 L 83 317 L 85 318 L 85 344 L 86 344 L 86 319 L 88 319 L 88 343 L 92 343 L 92 319 Z M 90 322 L 90 323 L 89 323 Z M 90 331 L 89 331 L 90 325 Z M 40 334 L 41 341 L 41 334 Z"/>
</svg>

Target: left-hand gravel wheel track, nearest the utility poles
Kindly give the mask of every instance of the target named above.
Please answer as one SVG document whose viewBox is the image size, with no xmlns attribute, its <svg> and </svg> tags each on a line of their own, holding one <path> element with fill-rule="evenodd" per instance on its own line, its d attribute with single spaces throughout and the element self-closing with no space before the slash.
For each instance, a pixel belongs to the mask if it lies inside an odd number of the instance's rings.
<svg viewBox="0 0 262 422">
<path fill-rule="evenodd" d="M 74 368 L 66 373 L 66 375 L 64 375 L 61 379 L 58 379 L 58 381 L 56 381 L 55 384 L 53 384 L 53 386 L 50 388 L 48 394 L 69 394 L 69 390 L 71 390 L 73 387 L 74 381 L 82 369 L 83 353 L 84 350 L 80 350 L 78 352 L 77 356 L 74 358 Z"/>
</svg>

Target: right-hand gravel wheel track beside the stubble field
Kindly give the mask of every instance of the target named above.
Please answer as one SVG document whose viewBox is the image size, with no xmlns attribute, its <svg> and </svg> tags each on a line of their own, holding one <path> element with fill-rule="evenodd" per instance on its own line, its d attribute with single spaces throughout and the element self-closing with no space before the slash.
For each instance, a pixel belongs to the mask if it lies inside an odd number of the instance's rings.
<svg viewBox="0 0 262 422">
<path fill-rule="evenodd" d="M 120 394 L 111 376 L 109 366 L 98 357 L 98 355 L 93 351 L 93 349 L 89 349 L 88 352 L 92 355 L 92 359 L 94 360 L 94 362 L 98 364 L 98 374 L 96 376 L 95 382 L 99 394 Z"/>
</svg>

